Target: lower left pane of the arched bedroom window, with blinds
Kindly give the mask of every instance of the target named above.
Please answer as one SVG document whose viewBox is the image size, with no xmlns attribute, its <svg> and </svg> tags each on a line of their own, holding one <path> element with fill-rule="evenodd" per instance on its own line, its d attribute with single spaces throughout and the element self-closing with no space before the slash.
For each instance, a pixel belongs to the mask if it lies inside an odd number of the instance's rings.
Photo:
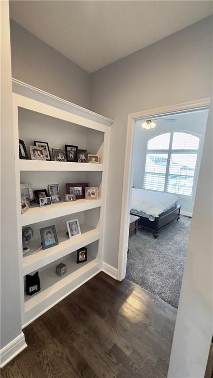
<svg viewBox="0 0 213 378">
<path fill-rule="evenodd" d="M 143 188 L 164 190 L 168 154 L 147 154 Z"/>
</svg>

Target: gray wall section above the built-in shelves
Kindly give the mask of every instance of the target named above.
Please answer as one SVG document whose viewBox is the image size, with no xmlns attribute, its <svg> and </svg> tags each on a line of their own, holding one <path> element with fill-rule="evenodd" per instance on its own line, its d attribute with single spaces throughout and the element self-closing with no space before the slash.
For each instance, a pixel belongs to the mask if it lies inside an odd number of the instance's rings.
<svg viewBox="0 0 213 378">
<path fill-rule="evenodd" d="M 10 20 L 12 77 L 89 109 L 90 74 Z"/>
</svg>

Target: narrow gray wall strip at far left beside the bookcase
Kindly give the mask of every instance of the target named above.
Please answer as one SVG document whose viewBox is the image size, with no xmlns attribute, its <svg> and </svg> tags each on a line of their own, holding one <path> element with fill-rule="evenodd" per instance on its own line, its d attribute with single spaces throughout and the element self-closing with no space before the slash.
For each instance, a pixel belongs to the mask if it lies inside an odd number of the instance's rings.
<svg viewBox="0 0 213 378">
<path fill-rule="evenodd" d="M 12 82 L 9 40 L 9 8 L 1 8 L 1 133 L 0 133 L 0 348 L 21 333 L 19 262 L 17 253 L 15 166 L 13 146 Z"/>
</svg>

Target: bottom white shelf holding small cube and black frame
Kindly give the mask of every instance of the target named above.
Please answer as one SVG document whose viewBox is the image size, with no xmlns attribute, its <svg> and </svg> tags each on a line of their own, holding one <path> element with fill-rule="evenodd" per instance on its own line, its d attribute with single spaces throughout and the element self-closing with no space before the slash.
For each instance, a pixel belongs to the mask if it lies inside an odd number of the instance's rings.
<svg viewBox="0 0 213 378">
<path fill-rule="evenodd" d="M 98 259 L 90 254 L 88 254 L 87 262 L 85 263 L 76 264 L 76 255 L 73 253 L 63 261 L 67 265 L 67 273 L 62 277 L 56 274 L 55 266 L 50 266 L 39 272 L 41 289 L 32 296 L 25 294 L 25 312 L 54 296 L 57 291 L 61 289 L 65 291 L 65 287 L 71 284 L 73 280 L 98 265 Z"/>
</svg>

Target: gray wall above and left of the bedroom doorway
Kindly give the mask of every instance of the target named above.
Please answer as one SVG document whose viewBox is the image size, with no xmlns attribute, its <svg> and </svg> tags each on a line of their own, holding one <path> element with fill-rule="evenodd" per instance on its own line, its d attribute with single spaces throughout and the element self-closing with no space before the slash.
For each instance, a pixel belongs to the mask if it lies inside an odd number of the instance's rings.
<svg viewBox="0 0 213 378">
<path fill-rule="evenodd" d="M 91 110 L 114 119 L 104 256 L 113 267 L 118 260 L 128 113 L 210 97 L 211 77 L 212 17 L 92 74 Z"/>
</svg>

